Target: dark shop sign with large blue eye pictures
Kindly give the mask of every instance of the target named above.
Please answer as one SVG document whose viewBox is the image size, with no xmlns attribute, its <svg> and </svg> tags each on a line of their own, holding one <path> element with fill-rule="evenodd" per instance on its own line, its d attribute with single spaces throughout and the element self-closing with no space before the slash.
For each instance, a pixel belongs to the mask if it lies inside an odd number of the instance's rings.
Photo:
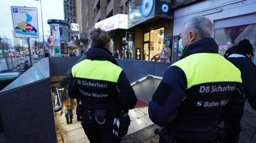
<svg viewBox="0 0 256 143">
<path fill-rule="evenodd" d="M 128 14 L 128 29 L 154 17 L 173 19 L 172 5 L 174 0 L 142 0 L 141 5 Z"/>
</svg>

